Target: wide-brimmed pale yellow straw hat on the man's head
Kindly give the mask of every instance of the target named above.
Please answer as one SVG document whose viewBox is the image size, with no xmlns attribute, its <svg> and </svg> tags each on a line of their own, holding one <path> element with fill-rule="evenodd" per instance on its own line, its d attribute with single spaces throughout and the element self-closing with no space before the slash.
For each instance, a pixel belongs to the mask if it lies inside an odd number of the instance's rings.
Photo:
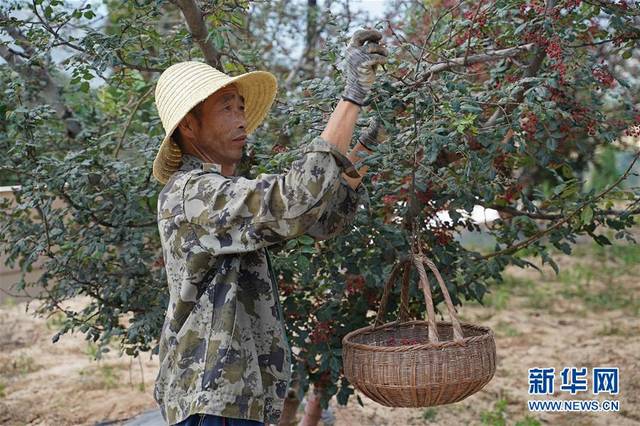
<svg viewBox="0 0 640 426">
<path fill-rule="evenodd" d="M 163 185 L 182 163 L 180 147 L 171 135 L 185 115 L 219 89 L 235 83 L 244 97 L 247 135 L 264 120 L 271 108 L 278 82 L 267 71 L 253 71 L 230 77 L 198 61 L 179 62 L 167 68 L 158 79 L 155 102 L 166 132 L 153 161 L 153 176 Z"/>
</svg>

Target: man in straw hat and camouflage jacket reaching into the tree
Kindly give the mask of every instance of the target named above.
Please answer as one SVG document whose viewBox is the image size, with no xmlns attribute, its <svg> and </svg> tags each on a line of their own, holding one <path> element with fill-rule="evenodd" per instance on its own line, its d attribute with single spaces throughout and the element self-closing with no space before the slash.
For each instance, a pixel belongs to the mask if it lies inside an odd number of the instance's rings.
<svg viewBox="0 0 640 426">
<path fill-rule="evenodd" d="M 345 154 L 376 66 L 386 62 L 381 38 L 354 34 L 342 100 L 325 130 L 288 173 L 256 179 L 234 172 L 275 98 L 275 77 L 229 77 L 193 61 L 160 76 L 167 134 L 153 174 L 165 184 L 158 228 L 170 299 L 154 397 L 169 424 L 278 422 L 291 355 L 267 247 L 304 233 L 330 238 L 353 218 L 364 194 L 353 163 L 375 149 L 379 123 Z"/>
</svg>

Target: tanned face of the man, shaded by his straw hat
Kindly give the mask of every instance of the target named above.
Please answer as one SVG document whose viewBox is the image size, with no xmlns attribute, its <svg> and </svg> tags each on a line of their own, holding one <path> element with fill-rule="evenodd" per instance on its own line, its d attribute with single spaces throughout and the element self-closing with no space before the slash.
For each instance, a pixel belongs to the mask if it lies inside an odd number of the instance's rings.
<svg viewBox="0 0 640 426">
<path fill-rule="evenodd" d="M 215 162 L 230 165 L 242 158 L 247 122 L 244 99 L 229 85 L 204 100 L 199 122 L 195 120 L 194 144 Z M 242 138 L 241 140 L 234 140 Z"/>
</svg>

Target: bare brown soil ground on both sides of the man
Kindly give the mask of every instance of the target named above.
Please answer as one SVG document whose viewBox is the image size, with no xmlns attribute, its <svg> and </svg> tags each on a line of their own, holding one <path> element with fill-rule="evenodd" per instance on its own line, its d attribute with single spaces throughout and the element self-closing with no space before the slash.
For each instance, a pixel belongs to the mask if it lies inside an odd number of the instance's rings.
<svg viewBox="0 0 640 426">
<path fill-rule="evenodd" d="M 352 397 L 347 407 L 332 403 L 335 424 L 640 425 L 640 247 L 579 245 L 571 256 L 554 259 L 560 275 L 547 265 L 542 274 L 509 267 L 485 306 L 468 302 L 459 308 L 462 320 L 487 325 L 496 334 L 496 374 L 484 389 L 459 403 L 426 409 L 387 408 L 365 397 L 361 407 Z M 118 357 L 114 347 L 94 361 L 95 347 L 81 335 L 51 343 L 56 321 L 34 318 L 25 304 L 0 308 L 0 424 L 121 424 L 156 408 L 157 358 L 131 361 Z M 571 366 L 589 372 L 619 367 L 619 395 L 571 396 L 559 391 L 557 374 L 553 399 L 615 399 L 620 411 L 529 412 L 527 369 L 559 372 Z"/>
</svg>

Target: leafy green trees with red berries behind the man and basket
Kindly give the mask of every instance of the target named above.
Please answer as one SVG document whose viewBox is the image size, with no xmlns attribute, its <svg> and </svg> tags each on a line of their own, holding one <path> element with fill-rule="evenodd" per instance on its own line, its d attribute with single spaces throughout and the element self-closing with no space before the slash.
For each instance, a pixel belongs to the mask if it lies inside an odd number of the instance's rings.
<svg viewBox="0 0 640 426">
<path fill-rule="evenodd" d="M 378 114 L 389 135 L 366 160 L 370 208 L 343 235 L 272 247 L 300 391 L 315 384 L 325 404 L 353 392 L 340 341 L 371 323 L 411 244 L 462 304 L 482 301 L 509 264 L 537 268 L 530 259 L 540 257 L 557 270 L 551 248 L 571 253 L 579 235 L 612 244 L 610 228 L 633 241 L 639 211 L 637 188 L 624 185 L 638 158 L 637 2 L 394 1 L 387 11 L 375 27 L 389 62 L 360 123 Z M 0 20 L 0 177 L 21 185 L 15 207 L 3 201 L 0 241 L 24 271 L 46 260 L 16 291 L 37 290 L 42 314 L 66 314 L 54 341 L 80 330 L 103 350 L 116 340 L 129 355 L 156 353 L 168 302 L 151 179 L 159 73 L 188 59 L 232 75 L 274 72 L 278 98 L 240 171 L 283 171 L 339 99 L 341 53 L 363 16 L 348 1 L 34 0 L 3 6 Z M 58 63 L 60 47 L 70 56 Z M 622 173 L 607 163 L 614 150 L 630 153 Z M 594 168 L 609 179 L 594 183 Z M 501 218 L 482 229 L 458 211 L 476 205 Z M 459 238 L 481 230 L 489 251 Z M 77 295 L 91 302 L 65 309 Z"/>
</svg>

